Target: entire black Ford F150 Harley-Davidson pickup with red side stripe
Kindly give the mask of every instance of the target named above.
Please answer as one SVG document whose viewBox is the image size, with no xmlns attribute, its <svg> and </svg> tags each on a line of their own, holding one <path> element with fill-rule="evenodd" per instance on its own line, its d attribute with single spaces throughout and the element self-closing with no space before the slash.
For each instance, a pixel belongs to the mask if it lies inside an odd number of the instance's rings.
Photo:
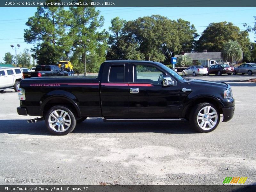
<svg viewBox="0 0 256 192">
<path fill-rule="evenodd" d="M 97 78 L 21 80 L 19 115 L 41 116 L 50 132 L 66 135 L 88 116 L 104 121 L 185 121 L 211 132 L 234 114 L 226 83 L 185 79 L 152 61 L 105 61 Z"/>
</svg>

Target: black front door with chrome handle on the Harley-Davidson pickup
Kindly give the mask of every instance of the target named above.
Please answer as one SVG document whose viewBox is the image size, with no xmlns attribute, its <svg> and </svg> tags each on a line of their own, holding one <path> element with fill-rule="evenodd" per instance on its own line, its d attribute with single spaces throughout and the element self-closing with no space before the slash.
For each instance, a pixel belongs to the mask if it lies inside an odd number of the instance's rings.
<svg viewBox="0 0 256 192">
<path fill-rule="evenodd" d="M 180 83 L 163 86 L 166 74 L 152 64 L 131 63 L 129 79 L 129 117 L 170 118 L 179 116 Z M 167 75 L 169 76 L 169 75 Z"/>
</svg>

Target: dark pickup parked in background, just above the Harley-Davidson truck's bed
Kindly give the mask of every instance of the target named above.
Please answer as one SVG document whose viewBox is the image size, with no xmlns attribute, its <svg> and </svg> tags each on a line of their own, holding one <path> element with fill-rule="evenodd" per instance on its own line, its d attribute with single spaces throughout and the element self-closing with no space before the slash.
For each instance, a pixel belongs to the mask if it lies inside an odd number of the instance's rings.
<svg viewBox="0 0 256 192">
<path fill-rule="evenodd" d="M 68 76 L 68 72 L 61 70 L 56 65 L 38 65 L 35 71 L 23 72 L 24 79 L 43 76 Z"/>
</svg>

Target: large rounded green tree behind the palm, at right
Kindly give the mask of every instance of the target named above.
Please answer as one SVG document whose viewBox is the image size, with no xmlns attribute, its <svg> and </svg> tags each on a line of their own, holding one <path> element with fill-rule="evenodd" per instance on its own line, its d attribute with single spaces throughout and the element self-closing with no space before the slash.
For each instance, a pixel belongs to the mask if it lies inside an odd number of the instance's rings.
<svg viewBox="0 0 256 192">
<path fill-rule="evenodd" d="M 251 43 L 247 31 L 240 31 L 232 23 L 226 21 L 210 23 L 196 42 L 196 51 L 221 52 L 229 40 L 237 41 L 243 51 L 243 60 L 250 61 Z"/>
</svg>

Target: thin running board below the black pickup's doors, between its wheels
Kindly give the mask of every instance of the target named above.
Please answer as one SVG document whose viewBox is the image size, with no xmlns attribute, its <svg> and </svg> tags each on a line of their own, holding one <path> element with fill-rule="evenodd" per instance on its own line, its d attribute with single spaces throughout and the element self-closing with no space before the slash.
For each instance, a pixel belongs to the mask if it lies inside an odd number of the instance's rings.
<svg viewBox="0 0 256 192">
<path fill-rule="evenodd" d="M 103 118 L 104 122 L 170 122 L 170 121 L 187 121 L 183 118 L 177 119 L 112 119 L 112 118 Z"/>
</svg>

